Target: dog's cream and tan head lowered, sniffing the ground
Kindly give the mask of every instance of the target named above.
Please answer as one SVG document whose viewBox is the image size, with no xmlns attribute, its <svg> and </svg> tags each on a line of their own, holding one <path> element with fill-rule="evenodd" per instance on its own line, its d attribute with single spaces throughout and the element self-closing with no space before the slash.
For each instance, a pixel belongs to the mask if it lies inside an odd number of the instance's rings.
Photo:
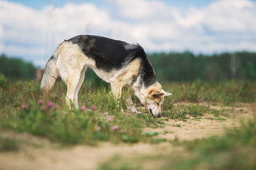
<svg viewBox="0 0 256 170">
<path fill-rule="evenodd" d="M 171 93 L 165 92 L 157 82 L 143 90 L 140 94 L 140 101 L 154 117 L 161 117 L 161 104 L 164 101 L 164 96 L 171 95 Z"/>
</svg>

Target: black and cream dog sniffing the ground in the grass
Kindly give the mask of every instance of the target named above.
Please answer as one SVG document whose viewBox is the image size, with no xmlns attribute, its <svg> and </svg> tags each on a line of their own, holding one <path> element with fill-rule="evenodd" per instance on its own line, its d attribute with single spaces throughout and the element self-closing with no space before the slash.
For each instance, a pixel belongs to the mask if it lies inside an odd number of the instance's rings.
<svg viewBox="0 0 256 170">
<path fill-rule="evenodd" d="M 84 81 L 84 73 L 91 67 L 102 80 L 110 83 L 115 99 L 121 96 L 123 87 L 131 87 L 135 96 L 154 117 L 161 117 L 161 104 L 165 92 L 143 48 L 137 43 L 79 35 L 63 41 L 48 60 L 41 82 L 41 90 L 47 93 L 58 76 L 67 85 L 65 102 L 70 99 L 78 107 L 77 95 Z M 134 107 L 130 94 L 125 104 L 132 113 L 140 113 Z"/>
</svg>

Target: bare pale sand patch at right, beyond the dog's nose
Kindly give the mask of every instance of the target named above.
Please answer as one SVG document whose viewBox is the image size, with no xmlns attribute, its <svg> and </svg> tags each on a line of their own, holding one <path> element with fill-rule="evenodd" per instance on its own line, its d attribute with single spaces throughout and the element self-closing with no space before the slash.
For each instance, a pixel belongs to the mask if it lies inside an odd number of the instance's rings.
<svg viewBox="0 0 256 170">
<path fill-rule="evenodd" d="M 239 106 L 239 107 L 237 107 Z M 225 130 L 238 127 L 241 120 L 252 118 L 256 114 L 256 104 L 237 104 L 237 106 L 211 106 L 216 109 L 230 110 L 228 117 L 206 115 L 200 118 L 189 118 L 186 122 L 169 120 L 164 128 L 145 128 L 145 131 L 160 132 L 157 137 L 165 139 L 192 140 L 221 135 Z"/>
</svg>

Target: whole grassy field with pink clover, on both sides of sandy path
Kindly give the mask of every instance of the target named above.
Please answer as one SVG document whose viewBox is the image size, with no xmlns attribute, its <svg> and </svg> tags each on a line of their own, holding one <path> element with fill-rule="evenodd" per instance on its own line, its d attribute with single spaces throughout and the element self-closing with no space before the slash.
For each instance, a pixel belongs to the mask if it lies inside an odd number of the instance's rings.
<svg viewBox="0 0 256 170">
<path fill-rule="evenodd" d="M 110 142 L 118 145 L 145 143 L 150 147 L 168 143 L 168 147 L 181 148 L 177 155 L 172 151 L 150 156 L 138 154 L 131 158 L 116 155 L 100 163 L 99 169 L 145 169 L 147 162 L 156 162 L 157 166 L 151 169 L 256 168 L 255 118 L 244 120 L 239 127 L 232 127 L 221 136 L 191 140 L 164 138 L 165 134 L 172 135 L 176 131 L 164 130 L 169 127 L 179 131 L 184 124 L 191 122 L 231 120 L 233 113 L 239 114 L 237 110 L 244 103 L 255 103 L 256 83 L 199 80 L 163 83 L 163 89 L 172 92 L 173 96 L 165 97 L 161 118 L 148 114 L 134 96 L 136 107 L 145 114 L 131 114 L 124 99 L 117 103 L 113 100 L 108 85 L 93 87 L 88 82 L 79 92 L 82 107 L 68 110 L 65 106 L 66 88 L 62 81 L 58 81 L 51 92 L 42 97 L 40 85 L 34 81 L 0 79 L 1 131 L 26 132 L 46 138 L 51 143 L 60 143 L 62 147 L 87 145 L 100 148 L 100 143 Z M 126 94 L 124 92 L 123 98 Z M 19 139 L 0 135 L 0 152 L 3 154 L 20 148 L 23 144 Z"/>
</svg>

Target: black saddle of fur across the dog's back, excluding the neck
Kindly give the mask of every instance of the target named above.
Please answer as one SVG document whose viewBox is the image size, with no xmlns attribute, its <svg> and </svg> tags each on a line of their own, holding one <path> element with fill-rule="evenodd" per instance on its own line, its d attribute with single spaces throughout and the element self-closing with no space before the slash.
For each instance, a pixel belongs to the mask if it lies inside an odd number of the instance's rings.
<svg viewBox="0 0 256 170">
<path fill-rule="evenodd" d="M 80 35 L 68 39 L 67 42 L 78 45 L 84 55 L 95 60 L 95 66 L 104 71 L 120 69 L 124 64 L 145 53 L 140 45 L 131 45 L 102 36 Z"/>
</svg>

